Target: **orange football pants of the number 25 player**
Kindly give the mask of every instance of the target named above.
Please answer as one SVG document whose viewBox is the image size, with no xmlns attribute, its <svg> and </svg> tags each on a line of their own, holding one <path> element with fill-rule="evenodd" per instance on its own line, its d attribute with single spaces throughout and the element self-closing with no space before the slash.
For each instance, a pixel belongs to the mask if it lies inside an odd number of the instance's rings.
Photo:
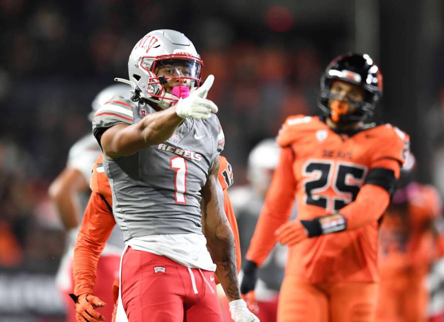
<svg viewBox="0 0 444 322">
<path fill-rule="evenodd" d="M 311 284 L 285 276 L 278 322 L 373 322 L 378 285 L 340 282 Z"/>
</svg>

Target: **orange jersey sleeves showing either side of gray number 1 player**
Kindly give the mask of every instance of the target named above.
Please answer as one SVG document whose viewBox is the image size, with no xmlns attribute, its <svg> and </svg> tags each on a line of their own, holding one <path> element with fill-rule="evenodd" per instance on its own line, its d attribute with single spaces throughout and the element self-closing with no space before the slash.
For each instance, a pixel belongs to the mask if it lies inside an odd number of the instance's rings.
<svg viewBox="0 0 444 322">
<path fill-rule="evenodd" d="M 224 191 L 224 209 L 230 223 L 236 245 L 236 260 L 238 271 L 241 269 L 241 246 L 239 241 L 238 224 L 231 205 L 227 188 L 233 183 L 231 165 L 223 156 L 219 157 L 220 167 L 218 179 Z M 81 222 L 79 237 L 74 250 L 73 273 L 75 280 L 75 294 L 92 293 L 95 280 L 95 268 L 100 252 L 105 246 L 116 221 L 103 203 L 103 196 L 110 207 L 113 205 L 112 193 L 108 177 L 103 169 L 103 155 L 101 154 L 93 166 L 90 180 L 92 190 L 85 215 Z"/>
</svg>

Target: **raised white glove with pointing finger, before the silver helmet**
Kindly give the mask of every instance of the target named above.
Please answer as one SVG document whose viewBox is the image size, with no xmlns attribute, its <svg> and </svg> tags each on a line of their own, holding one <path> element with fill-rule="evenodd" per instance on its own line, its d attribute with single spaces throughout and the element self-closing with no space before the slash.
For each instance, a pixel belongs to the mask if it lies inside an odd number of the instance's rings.
<svg viewBox="0 0 444 322">
<path fill-rule="evenodd" d="M 179 99 L 176 105 L 176 114 L 182 118 L 208 118 L 211 113 L 217 113 L 217 106 L 206 99 L 206 95 L 213 85 L 214 76 L 209 75 L 201 87 L 191 92 L 185 99 Z"/>
</svg>

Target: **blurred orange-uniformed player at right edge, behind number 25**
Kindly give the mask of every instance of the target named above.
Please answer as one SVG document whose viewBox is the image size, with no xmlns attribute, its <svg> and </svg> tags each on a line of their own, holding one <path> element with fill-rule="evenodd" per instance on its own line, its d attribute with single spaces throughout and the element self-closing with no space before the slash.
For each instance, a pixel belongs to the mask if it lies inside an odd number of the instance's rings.
<svg viewBox="0 0 444 322">
<path fill-rule="evenodd" d="M 434 225 L 442 203 L 434 187 L 411 180 L 414 164 L 409 154 L 380 228 L 378 322 L 427 321 L 425 278 L 442 254 Z"/>
</svg>

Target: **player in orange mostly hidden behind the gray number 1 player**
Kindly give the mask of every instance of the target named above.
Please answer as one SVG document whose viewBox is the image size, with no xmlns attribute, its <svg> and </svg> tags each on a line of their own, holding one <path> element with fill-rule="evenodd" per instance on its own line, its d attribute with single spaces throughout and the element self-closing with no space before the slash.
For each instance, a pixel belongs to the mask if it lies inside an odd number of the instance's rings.
<svg viewBox="0 0 444 322">
<path fill-rule="evenodd" d="M 236 244 L 236 260 L 238 270 L 241 268 L 241 246 L 239 242 L 238 226 L 236 217 L 231 206 L 227 189 L 233 184 L 233 172 L 231 165 L 223 156 L 220 159 L 219 182 L 224 191 L 225 213 L 233 230 Z M 96 311 L 97 307 L 105 305 L 113 307 L 111 303 L 105 303 L 101 298 L 94 296 L 94 286 L 96 282 L 97 262 L 102 252 L 105 242 L 116 225 L 112 212 L 111 188 L 103 170 L 103 156 L 100 155 L 93 166 L 93 173 L 90 181 L 92 190 L 91 197 L 85 210 L 79 236 L 74 250 L 74 281 L 75 288 L 72 295 L 76 302 L 77 317 L 81 320 L 88 319 L 89 322 L 103 321 L 103 316 Z M 219 283 L 216 277 L 216 283 Z M 111 294 L 112 285 L 109 284 Z M 119 281 L 114 283 L 113 293 L 115 296 L 115 308 L 119 294 Z M 95 294 L 97 295 L 97 294 Z M 79 300 L 80 299 L 80 300 Z M 116 312 L 115 312 L 116 313 Z M 114 316 L 115 318 L 115 316 Z M 125 318 L 123 318 L 125 319 Z M 113 320 L 114 321 L 114 320 Z M 117 320 L 119 321 L 119 320 Z"/>
</svg>

